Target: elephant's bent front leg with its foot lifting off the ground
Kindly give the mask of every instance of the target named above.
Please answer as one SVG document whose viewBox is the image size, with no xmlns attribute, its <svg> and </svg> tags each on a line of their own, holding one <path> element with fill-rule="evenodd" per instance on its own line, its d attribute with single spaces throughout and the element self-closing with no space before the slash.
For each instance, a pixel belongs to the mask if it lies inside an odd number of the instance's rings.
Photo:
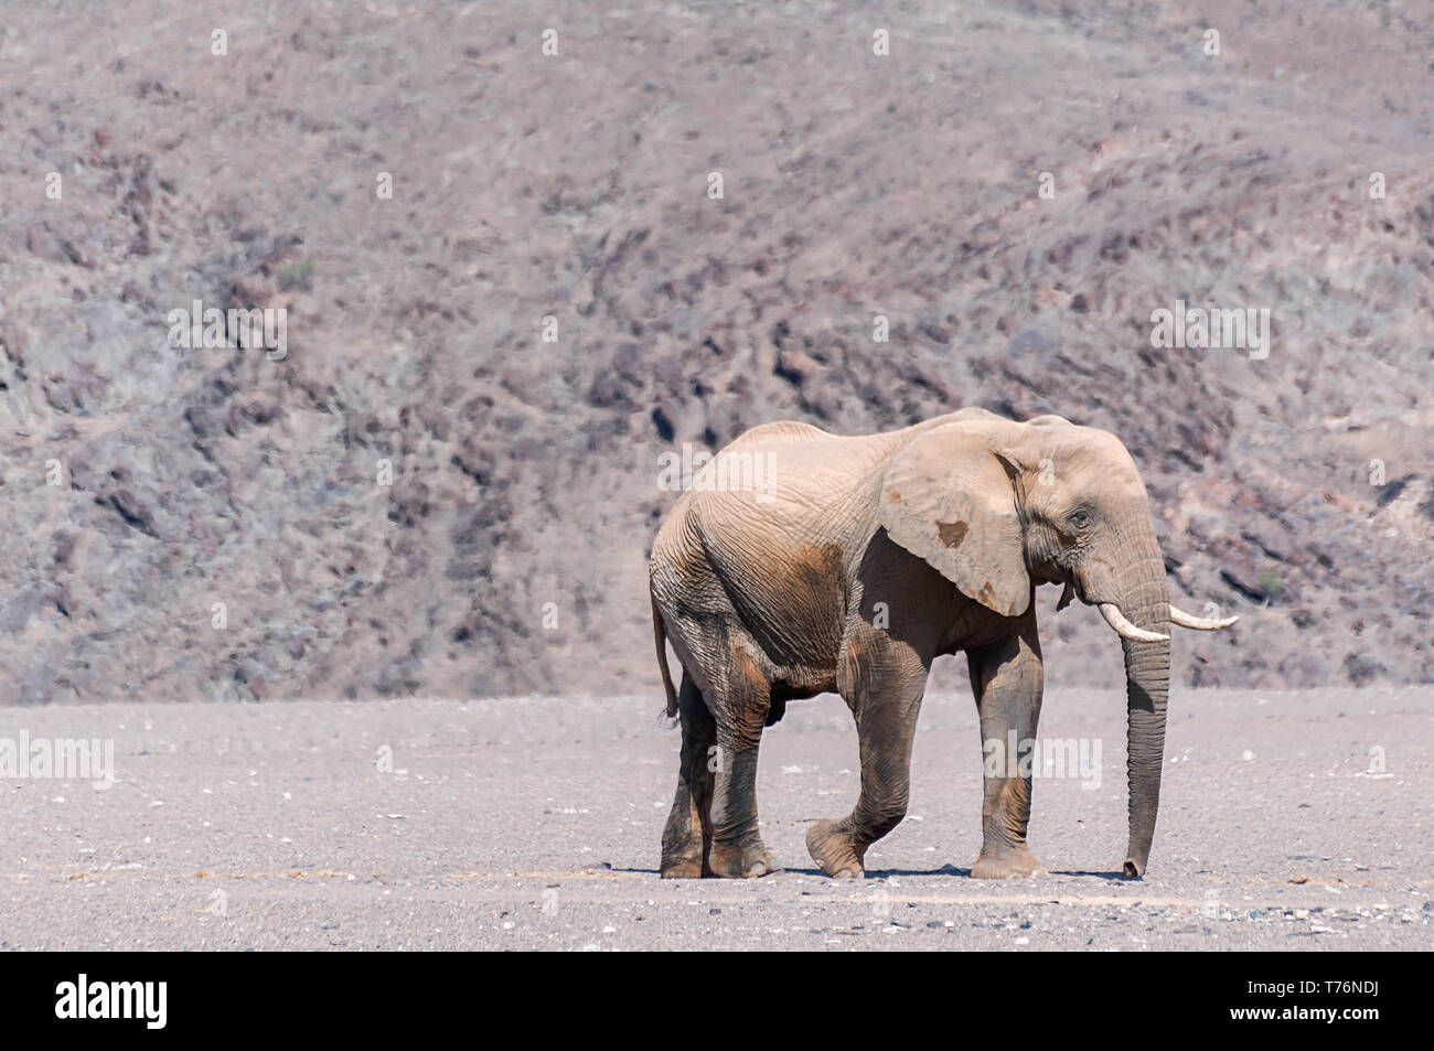
<svg viewBox="0 0 1434 1051">
<path fill-rule="evenodd" d="M 860 879 L 866 849 L 901 824 L 911 797 L 911 748 L 926 662 L 869 631 L 845 661 L 842 697 L 856 715 L 862 793 L 852 813 L 807 829 L 807 853 L 827 876 Z"/>
</svg>

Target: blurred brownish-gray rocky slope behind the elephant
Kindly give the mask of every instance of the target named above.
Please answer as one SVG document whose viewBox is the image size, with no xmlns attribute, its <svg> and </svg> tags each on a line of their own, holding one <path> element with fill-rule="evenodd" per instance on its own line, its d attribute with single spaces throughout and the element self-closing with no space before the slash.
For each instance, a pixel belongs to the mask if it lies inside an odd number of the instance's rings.
<svg viewBox="0 0 1434 1051">
<path fill-rule="evenodd" d="M 663 452 L 964 404 L 1124 439 L 1182 681 L 1434 680 L 1428 4 L 139 7 L 0 26 L 0 701 L 655 698 Z"/>
</svg>

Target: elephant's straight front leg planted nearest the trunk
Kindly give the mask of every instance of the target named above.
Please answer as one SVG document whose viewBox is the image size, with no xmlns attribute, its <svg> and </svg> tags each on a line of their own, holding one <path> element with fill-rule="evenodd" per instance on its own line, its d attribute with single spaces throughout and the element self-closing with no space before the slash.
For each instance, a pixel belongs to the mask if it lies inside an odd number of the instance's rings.
<svg viewBox="0 0 1434 1051">
<path fill-rule="evenodd" d="M 977 879 L 1044 876 L 1025 842 L 1031 820 L 1031 767 L 1021 756 L 1035 748 L 1044 670 L 1034 615 L 1018 635 L 968 654 L 971 688 L 981 714 L 984 793 Z M 1014 743 L 1014 751 L 1012 751 Z"/>
</svg>

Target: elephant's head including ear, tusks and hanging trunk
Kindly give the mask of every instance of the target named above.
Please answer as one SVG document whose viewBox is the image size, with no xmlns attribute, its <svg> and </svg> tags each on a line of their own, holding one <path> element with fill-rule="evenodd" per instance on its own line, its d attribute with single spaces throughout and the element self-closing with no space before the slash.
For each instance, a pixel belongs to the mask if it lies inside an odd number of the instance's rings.
<svg viewBox="0 0 1434 1051">
<path fill-rule="evenodd" d="M 982 417 L 925 432 L 888 465 L 880 523 L 967 596 L 1024 614 L 1032 585 L 1063 584 L 1100 609 L 1126 655 L 1130 842 L 1124 872 L 1150 855 L 1164 754 L 1169 624 L 1226 628 L 1170 605 L 1150 500 L 1113 434 L 1057 416 Z"/>
</svg>

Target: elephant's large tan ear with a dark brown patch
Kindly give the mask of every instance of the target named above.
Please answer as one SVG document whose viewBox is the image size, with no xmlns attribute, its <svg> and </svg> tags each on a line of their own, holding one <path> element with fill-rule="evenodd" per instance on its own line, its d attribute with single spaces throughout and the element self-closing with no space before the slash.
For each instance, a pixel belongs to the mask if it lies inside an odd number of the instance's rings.
<svg viewBox="0 0 1434 1051">
<path fill-rule="evenodd" d="M 902 548 L 1002 617 L 1031 602 L 1021 516 L 1005 462 L 959 424 L 902 449 L 882 476 L 879 519 Z"/>
</svg>

